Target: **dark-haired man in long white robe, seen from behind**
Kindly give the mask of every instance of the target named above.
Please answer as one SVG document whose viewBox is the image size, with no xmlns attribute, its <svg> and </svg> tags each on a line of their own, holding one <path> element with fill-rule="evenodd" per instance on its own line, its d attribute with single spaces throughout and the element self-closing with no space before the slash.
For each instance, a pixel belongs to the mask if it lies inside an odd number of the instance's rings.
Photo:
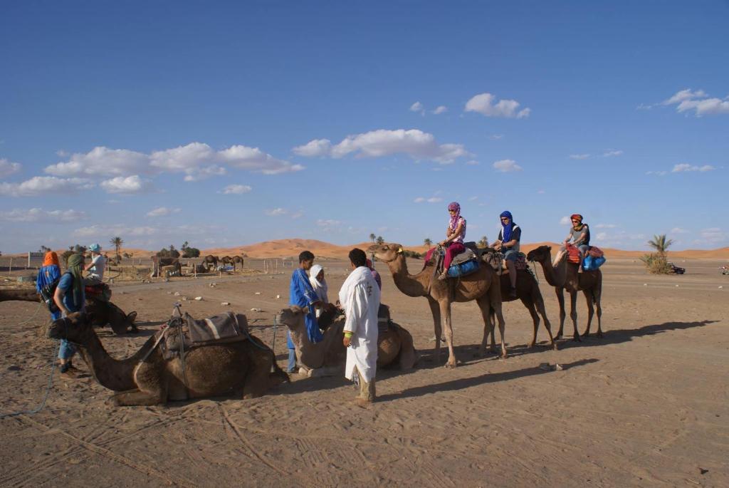
<svg viewBox="0 0 729 488">
<path fill-rule="evenodd" d="M 380 309 L 380 288 L 367 268 L 367 255 L 362 249 L 352 249 L 349 260 L 353 271 L 339 290 L 339 301 L 344 310 L 344 346 L 347 348 L 346 379 L 359 379 L 362 405 L 375 400 L 375 373 L 377 372 L 377 312 Z"/>
</svg>

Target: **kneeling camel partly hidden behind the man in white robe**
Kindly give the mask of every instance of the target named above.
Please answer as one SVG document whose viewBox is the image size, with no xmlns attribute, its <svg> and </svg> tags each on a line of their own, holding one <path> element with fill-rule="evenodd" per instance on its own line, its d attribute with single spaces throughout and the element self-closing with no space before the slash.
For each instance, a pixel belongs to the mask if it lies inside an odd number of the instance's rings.
<svg viewBox="0 0 729 488">
<path fill-rule="evenodd" d="M 386 307 L 386 306 L 385 306 Z M 313 344 L 309 341 L 304 323 L 304 315 L 308 309 L 292 305 L 281 309 L 276 316 L 278 323 L 286 325 L 291 333 L 291 340 L 296 346 L 297 361 L 306 367 L 308 376 L 327 376 L 340 373 L 346 363 L 347 349 L 344 338 L 344 320 L 340 319 L 324 330 L 324 340 Z M 326 325 L 327 312 L 319 317 Z M 388 311 L 389 315 L 389 311 Z M 331 320 L 332 317 L 329 317 Z M 418 354 L 413 346 L 413 336 L 402 326 L 390 322 L 387 332 L 380 333 L 377 341 L 377 366 L 386 368 L 396 366 L 400 370 L 413 368 L 418 361 Z"/>
</svg>

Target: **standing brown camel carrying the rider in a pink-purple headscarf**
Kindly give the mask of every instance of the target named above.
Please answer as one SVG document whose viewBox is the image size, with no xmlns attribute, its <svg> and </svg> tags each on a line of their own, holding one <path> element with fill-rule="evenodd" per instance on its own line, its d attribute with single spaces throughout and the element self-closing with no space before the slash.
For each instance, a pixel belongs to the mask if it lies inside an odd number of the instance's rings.
<svg viewBox="0 0 729 488">
<path fill-rule="evenodd" d="M 453 351 L 453 327 L 451 325 L 451 302 L 466 302 L 475 300 L 483 316 L 483 341 L 481 341 L 480 354 L 486 354 L 486 340 L 493 328 L 489 319 L 489 309 L 493 308 L 496 319 L 499 320 L 499 333 L 501 334 L 502 357 L 506 357 L 504 344 L 504 315 L 502 314 L 501 290 L 497 284 L 498 276 L 491 266 L 480 266 L 478 271 L 462 276 L 459 279 L 435 279 L 434 258 L 426 263 L 423 271 L 416 275 L 408 274 L 408 264 L 405 262 L 405 253 L 400 244 L 373 244 L 367 249 L 378 260 L 387 264 L 395 286 L 405 295 L 411 297 L 425 297 L 428 299 L 430 311 L 433 314 L 435 328 L 435 351 L 440 361 L 440 333 L 443 317 L 445 329 L 445 342 L 448 344 L 448 362 L 446 368 L 456 367 L 456 353 Z M 434 253 L 435 254 L 435 253 Z"/>
</svg>

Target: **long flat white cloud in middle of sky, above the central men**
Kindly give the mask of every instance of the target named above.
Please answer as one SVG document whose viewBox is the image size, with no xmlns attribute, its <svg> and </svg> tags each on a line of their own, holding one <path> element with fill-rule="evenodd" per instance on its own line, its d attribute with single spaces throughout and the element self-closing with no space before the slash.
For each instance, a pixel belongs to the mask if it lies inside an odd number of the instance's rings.
<svg viewBox="0 0 729 488">
<path fill-rule="evenodd" d="M 303 146 L 295 147 L 299 155 L 343 158 L 355 155 L 358 158 L 381 158 L 387 155 L 405 154 L 416 160 L 433 160 L 438 163 L 453 163 L 453 160 L 469 156 L 462 144 L 437 144 L 435 137 L 418 129 L 379 129 L 347 136 L 339 144 L 331 145 L 328 139 L 314 139 Z"/>
</svg>

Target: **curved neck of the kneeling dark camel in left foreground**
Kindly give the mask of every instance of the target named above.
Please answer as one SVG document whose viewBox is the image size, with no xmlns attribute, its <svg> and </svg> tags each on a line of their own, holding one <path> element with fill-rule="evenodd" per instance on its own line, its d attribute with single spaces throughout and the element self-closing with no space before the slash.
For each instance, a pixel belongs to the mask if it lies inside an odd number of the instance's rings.
<svg viewBox="0 0 729 488">
<path fill-rule="evenodd" d="M 79 354 L 101 386 L 115 392 L 123 392 L 136 388 L 134 369 L 142 355 L 153 346 L 154 341 L 155 337 L 152 336 L 134 355 L 124 360 L 116 360 L 106 352 L 93 328 L 89 327 L 83 347 L 79 348 Z"/>
</svg>

